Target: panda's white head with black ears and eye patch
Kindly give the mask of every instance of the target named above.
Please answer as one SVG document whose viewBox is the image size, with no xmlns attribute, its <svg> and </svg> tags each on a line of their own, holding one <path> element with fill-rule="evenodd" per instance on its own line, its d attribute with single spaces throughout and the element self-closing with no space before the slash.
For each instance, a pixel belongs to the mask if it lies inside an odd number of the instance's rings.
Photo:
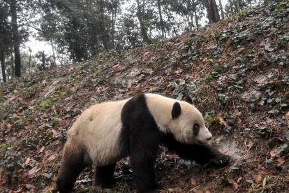
<svg viewBox="0 0 289 193">
<path fill-rule="evenodd" d="M 212 138 L 202 114 L 192 105 L 191 98 L 187 98 L 186 102 L 175 101 L 171 115 L 170 131 L 178 141 L 208 143 Z"/>
</svg>

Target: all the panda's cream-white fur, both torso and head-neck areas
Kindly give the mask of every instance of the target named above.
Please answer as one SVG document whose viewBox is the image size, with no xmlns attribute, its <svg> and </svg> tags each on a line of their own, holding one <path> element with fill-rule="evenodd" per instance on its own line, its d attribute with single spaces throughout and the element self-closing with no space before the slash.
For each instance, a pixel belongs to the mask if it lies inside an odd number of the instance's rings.
<svg viewBox="0 0 289 193">
<path fill-rule="evenodd" d="M 151 115 L 164 134 L 170 132 L 180 142 L 193 143 L 195 136 L 192 125 L 198 123 L 200 133 L 196 138 L 203 142 L 207 142 L 207 138 L 212 138 L 212 134 L 205 127 L 202 114 L 195 106 L 158 94 L 144 94 L 144 96 Z M 118 138 L 122 127 L 121 109 L 128 100 L 98 103 L 84 110 L 68 130 L 68 141 L 75 138 L 73 141 L 84 145 L 89 157 L 98 166 L 124 158 L 119 150 Z M 171 110 L 175 102 L 181 105 L 181 116 L 173 120 Z"/>
</svg>

